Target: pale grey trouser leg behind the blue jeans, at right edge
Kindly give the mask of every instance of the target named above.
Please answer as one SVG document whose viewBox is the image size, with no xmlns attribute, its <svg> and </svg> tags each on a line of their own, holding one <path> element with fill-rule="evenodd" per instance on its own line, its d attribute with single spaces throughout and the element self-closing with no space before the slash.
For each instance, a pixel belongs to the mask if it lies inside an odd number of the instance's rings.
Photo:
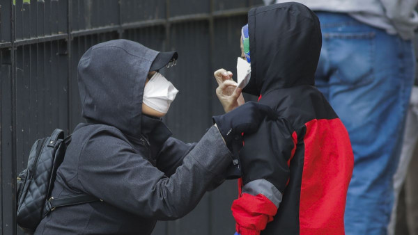
<svg viewBox="0 0 418 235">
<path fill-rule="evenodd" d="M 408 166 L 410 165 L 412 156 L 414 154 L 415 145 L 418 140 L 418 87 L 412 89 L 410 106 L 406 117 L 405 133 L 403 134 L 403 144 L 401 159 L 399 160 L 398 168 L 394 175 L 394 206 L 392 208 L 392 215 L 390 218 L 387 233 L 389 235 L 395 234 L 396 227 L 396 209 L 398 204 L 399 193 L 405 177 L 408 172 Z M 407 206 L 408 209 L 408 206 Z"/>
</svg>

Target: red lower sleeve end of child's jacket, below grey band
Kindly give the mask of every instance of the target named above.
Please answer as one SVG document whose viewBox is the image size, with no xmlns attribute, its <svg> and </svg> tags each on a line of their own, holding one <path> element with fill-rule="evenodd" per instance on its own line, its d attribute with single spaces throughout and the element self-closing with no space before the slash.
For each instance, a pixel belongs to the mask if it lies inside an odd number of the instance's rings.
<svg viewBox="0 0 418 235">
<path fill-rule="evenodd" d="M 231 210 L 237 222 L 237 232 L 241 235 L 260 234 L 277 213 L 277 207 L 267 197 L 248 193 L 242 193 L 240 198 L 233 201 Z"/>
</svg>

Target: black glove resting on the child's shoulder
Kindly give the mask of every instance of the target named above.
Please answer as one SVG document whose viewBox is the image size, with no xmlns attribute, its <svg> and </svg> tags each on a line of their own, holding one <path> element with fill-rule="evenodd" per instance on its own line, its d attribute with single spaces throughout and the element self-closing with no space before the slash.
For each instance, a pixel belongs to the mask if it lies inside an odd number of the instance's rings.
<svg viewBox="0 0 418 235">
<path fill-rule="evenodd" d="M 266 116 L 270 119 L 277 119 L 278 115 L 265 104 L 247 102 L 229 113 L 212 117 L 212 120 L 217 124 L 226 146 L 232 151 L 233 140 L 240 138 L 242 132 L 248 134 L 257 131 Z"/>
</svg>

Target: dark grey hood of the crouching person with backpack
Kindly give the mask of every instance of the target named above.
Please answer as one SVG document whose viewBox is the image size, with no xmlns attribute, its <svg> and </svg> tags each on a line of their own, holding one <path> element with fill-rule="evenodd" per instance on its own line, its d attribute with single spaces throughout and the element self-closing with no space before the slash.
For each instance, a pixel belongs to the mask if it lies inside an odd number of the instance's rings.
<svg viewBox="0 0 418 235">
<path fill-rule="evenodd" d="M 128 136 L 141 133 L 142 97 L 158 51 L 129 40 L 111 40 L 86 51 L 78 65 L 82 115 Z"/>
</svg>

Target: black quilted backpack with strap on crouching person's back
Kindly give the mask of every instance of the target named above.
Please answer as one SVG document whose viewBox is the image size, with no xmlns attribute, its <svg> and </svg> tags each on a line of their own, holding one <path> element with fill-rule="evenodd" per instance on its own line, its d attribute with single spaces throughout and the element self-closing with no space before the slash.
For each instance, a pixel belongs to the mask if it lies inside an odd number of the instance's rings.
<svg viewBox="0 0 418 235">
<path fill-rule="evenodd" d="M 51 197 L 56 170 L 61 165 L 71 136 L 55 129 L 50 137 L 36 140 L 29 154 L 28 167 L 17 177 L 17 224 L 25 232 L 34 232 L 40 220 L 59 206 L 97 201 L 91 195 Z"/>
</svg>

